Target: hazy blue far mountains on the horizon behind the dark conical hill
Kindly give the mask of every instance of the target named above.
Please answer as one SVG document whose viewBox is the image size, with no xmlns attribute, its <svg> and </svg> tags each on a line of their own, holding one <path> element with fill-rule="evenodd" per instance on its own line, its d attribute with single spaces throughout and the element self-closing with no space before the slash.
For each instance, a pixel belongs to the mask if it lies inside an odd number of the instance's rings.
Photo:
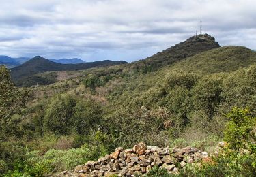
<svg viewBox="0 0 256 177">
<path fill-rule="evenodd" d="M 29 57 L 18 57 L 18 58 L 12 58 L 6 55 L 0 55 L 0 65 L 6 65 L 8 68 L 17 67 L 18 65 L 21 65 L 25 63 L 26 61 L 29 61 L 31 58 Z M 61 63 L 61 64 L 79 64 L 79 63 L 85 63 L 85 61 L 77 58 L 73 59 L 49 59 L 55 63 Z"/>
</svg>

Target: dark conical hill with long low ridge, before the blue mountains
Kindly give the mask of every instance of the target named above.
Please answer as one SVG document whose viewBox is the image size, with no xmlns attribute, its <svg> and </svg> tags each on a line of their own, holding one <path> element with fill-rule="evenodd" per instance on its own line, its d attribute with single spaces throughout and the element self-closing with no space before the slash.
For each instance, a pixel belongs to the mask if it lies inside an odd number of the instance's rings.
<svg viewBox="0 0 256 177">
<path fill-rule="evenodd" d="M 20 86 L 23 80 L 27 80 L 28 78 L 33 80 L 34 74 L 43 73 L 46 71 L 76 71 L 76 70 L 84 70 L 89 69 L 91 67 L 104 67 L 111 65 L 121 65 L 127 63 L 126 61 L 94 61 L 87 63 L 79 63 L 79 64 L 61 64 L 55 63 L 48 59 L 44 59 L 43 57 L 36 56 L 33 59 L 19 65 L 18 67 L 14 67 L 11 70 L 11 75 L 16 82 L 17 86 Z"/>
</svg>

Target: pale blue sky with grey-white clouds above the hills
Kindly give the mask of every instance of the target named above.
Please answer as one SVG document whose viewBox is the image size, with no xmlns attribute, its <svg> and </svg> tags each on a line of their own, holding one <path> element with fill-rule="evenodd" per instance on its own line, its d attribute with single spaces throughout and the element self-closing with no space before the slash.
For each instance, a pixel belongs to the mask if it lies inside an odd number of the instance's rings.
<svg viewBox="0 0 256 177">
<path fill-rule="evenodd" d="M 255 0 L 0 0 L 0 55 L 137 61 L 199 31 L 256 49 Z"/>
</svg>

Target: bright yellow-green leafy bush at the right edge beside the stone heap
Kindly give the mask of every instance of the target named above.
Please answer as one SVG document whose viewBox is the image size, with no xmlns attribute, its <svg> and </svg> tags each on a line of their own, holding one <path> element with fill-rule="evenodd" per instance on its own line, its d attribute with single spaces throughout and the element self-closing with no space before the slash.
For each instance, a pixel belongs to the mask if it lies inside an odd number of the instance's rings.
<svg viewBox="0 0 256 177">
<path fill-rule="evenodd" d="M 240 150 L 246 148 L 249 140 L 256 140 L 255 134 L 251 132 L 256 127 L 256 119 L 249 115 L 248 109 L 233 108 L 227 118 L 229 122 L 224 140 L 229 143 L 229 148 Z"/>
</svg>

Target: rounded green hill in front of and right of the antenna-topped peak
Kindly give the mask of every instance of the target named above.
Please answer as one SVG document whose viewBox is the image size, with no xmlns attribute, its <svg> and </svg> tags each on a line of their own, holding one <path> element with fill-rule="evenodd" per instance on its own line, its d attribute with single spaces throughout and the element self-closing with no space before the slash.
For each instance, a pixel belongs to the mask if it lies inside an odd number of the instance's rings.
<svg viewBox="0 0 256 177">
<path fill-rule="evenodd" d="M 225 46 L 190 57 L 173 67 L 205 74 L 229 72 L 256 62 L 256 52 L 241 46 Z"/>
</svg>

